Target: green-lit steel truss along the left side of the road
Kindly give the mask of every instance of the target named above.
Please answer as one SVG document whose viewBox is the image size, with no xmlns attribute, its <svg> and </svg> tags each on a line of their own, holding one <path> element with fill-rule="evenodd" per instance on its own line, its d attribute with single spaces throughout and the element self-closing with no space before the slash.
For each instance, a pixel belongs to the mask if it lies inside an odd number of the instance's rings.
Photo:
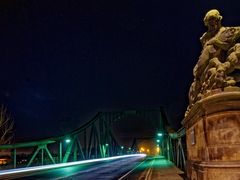
<svg viewBox="0 0 240 180">
<path fill-rule="evenodd" d="M 146 114 L 152 111 L 159 111 L 161 116 L 163 109 L 99 112 L 92 120 L 68 134 L 38 141 L 0 145 L 0 151 L 11 152 L 13 168 L 134 153 L 137 149 L 131 149 L 129 152 L 129 149 L 118 144 L 111 126 L 116 120 L 128 116 L 129 113 L 136 113 L 137 116 L 146 118 Z M 27 162 L 20 164 L 18 157 L 23 153 L 28 154 Z"/>
</svg>

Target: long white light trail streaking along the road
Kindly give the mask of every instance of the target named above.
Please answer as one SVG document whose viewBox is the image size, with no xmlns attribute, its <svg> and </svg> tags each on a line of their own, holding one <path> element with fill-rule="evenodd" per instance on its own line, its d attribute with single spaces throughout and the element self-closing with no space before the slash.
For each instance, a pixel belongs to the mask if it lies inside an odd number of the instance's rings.
<svg viewBox="0 0 240 180">
<path fill-rule="evenodd" d="M 87 164 L 87 163 L 101 162 L 101 161 L 108 161 L 108 160 L 116 160 L 116 159 L 122 159 L 122 158 L 128 158 L 128 157 L 146 157 L 146 154 L 131 154 L 131 155 L 123 155 L 123 156 L 113 156 L 113 157 L 108 157 L 108 158 L 89 159 L 89 160 L 84 160 L 84 161 L 75 161 L 75 162 L 68 162 L 68 163 L 44 165 L 44 166 L 9 169 L 9 170 L 0 171 L 0 178 L 1 178 L 1 175 L 13 175 L 13 174 L 19 174 L 19 173 L 25 173 L 25 172 L 49 170 L 49 169 L 54 169 L 54 168 L 75 166 L 75 165 L 80 165 L 80 164 Z"/>
</svg>

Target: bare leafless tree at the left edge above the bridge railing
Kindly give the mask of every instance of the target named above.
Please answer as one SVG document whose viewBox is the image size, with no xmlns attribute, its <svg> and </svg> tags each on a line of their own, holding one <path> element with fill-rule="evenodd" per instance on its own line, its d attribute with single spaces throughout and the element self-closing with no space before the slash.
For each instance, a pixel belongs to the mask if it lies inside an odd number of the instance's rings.
<svg viewBox="0 0 240 180">
<path fill-rule="evenodd" d="M 3 105 L 0 107 L 0 145 L 10 144 L 14 137 L 14 121 L 8 114 L 7 108 Z"/>
</svg>

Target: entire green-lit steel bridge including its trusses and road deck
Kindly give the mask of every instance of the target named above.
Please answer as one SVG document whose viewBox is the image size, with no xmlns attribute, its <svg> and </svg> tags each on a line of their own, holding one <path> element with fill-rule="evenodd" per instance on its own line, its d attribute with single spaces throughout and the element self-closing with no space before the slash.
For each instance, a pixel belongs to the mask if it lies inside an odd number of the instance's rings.
<svg viewBox="0 0 240 180">
<path fill-rule="evenodd" d="M 150 130 L 142 132 L 141 122 Z M 121 132 L 124 127 L 128 133 Z M 62 136 L 1 145 L 11 156 L 1 166 L 0 179 L 151 179 L 166 172 L 180 174 L 178 168 L 185 170 L 183 138 L 185 130 L 173 132 L 163 108 L 100 112 Z"/>
</svg>

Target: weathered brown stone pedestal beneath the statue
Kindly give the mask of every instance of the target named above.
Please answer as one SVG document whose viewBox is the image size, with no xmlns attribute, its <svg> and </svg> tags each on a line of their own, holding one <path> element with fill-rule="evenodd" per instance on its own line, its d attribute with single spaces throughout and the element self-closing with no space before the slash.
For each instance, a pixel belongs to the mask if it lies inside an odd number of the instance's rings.
<svg viewBox="0 0 240 180">
<path fill-rule="evenodd" d="M 240 180 L 240 92 L 197 102 L 183 120 L 193 180 Z"/>
</svg>

